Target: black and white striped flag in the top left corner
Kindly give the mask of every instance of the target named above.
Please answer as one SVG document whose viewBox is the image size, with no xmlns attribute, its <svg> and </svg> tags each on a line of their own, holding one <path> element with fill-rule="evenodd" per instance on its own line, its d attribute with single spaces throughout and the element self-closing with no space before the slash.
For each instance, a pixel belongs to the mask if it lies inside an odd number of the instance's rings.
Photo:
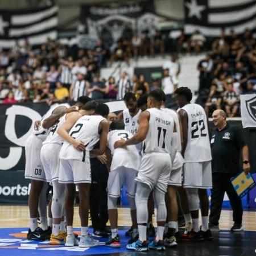
<svg viewBox="0 0 256 256">
<path fill-rule="evenodd" d="M 14 46 L 16 39 L 28 39 L 30 44 L 41 44 L 47 38 L 57 38 L 58 7 L 39 10 L 0 10 L 0 47 Z"/>
</svg>

